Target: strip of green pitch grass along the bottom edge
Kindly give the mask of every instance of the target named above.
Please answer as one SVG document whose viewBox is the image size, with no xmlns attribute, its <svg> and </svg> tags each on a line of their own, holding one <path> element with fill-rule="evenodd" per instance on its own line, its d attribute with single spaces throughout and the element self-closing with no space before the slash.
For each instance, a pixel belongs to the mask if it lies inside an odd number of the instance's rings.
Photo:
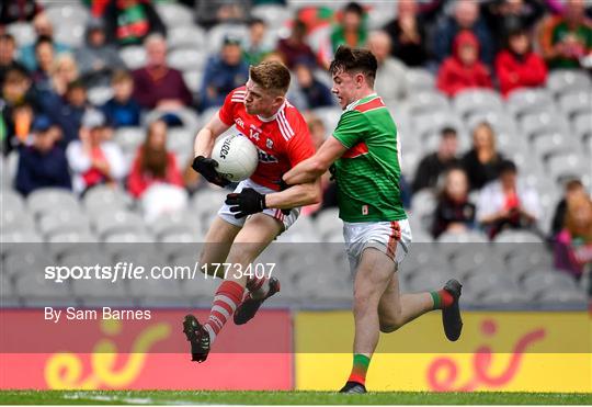
<svg viewBox="0 0 592 407">
<path fill-rule="evenodd" d="M 250 404 L 250 405 L 592 405 L 592 393 L 368 393 L 329 392 L 0 392 L 0 404 Z"/>
</svg>

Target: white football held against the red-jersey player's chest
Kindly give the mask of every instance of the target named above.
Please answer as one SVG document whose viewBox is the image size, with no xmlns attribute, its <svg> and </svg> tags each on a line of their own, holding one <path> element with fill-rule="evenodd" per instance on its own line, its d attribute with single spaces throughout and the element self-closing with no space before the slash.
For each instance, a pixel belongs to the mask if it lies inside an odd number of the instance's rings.
<svg viewBox="0 0 592 407">
<path fill-rule="evenodd" d="M 240 133 L 218 138 L 212 158 L 218 161 L 216 171 L 235 182 L 251 177 L 259 163 L 257 147 Z"/>
</svg>

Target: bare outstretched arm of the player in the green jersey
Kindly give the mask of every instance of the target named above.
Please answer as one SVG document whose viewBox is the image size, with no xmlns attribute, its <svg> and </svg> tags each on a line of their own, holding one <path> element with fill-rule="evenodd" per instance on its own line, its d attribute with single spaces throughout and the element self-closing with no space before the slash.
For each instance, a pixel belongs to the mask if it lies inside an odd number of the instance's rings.
<svg viewBox="0 0 592 407">
<path fill-rule="evenodd" d="M 310 158 L 300 161 L 283 177 L 288 185 L 310 183 L 318 180 L 348 148 L 335 137 L 329 137 Z"/>
</svg>

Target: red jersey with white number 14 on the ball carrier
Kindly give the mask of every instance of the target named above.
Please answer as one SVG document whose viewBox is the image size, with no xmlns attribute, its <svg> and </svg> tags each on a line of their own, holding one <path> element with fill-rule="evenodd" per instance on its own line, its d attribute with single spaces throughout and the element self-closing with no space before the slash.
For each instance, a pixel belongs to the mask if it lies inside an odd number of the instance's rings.
<svg viewBox="0 0 592 407">
<path fill-rule="evenodd" d="M 259 165 L 251 180 L 278 191 L 282 176 L 315 154 L 308 126 L 296 108 L 286 101 L 273 117 L 262 118 L 247 113 L 244 87 L 228 93 L 218 113 L 220 120 L 236 125 L 259 150 Z"/>
</svg>

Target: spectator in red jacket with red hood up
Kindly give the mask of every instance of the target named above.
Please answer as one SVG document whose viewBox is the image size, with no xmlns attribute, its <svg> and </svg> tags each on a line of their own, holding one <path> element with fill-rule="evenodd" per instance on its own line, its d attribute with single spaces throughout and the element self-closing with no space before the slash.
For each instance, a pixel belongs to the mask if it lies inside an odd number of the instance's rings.
<svg viewBox="0 0 592 407">
<path fill-rule="evenodd" d="M 449 97 L 465 89 L 491 88 L 489 69 L 479 60 L 479 42 L 470 31 L 455 37 L 453 55 L 440 67 L 437 88 Z"/>
</svg>

